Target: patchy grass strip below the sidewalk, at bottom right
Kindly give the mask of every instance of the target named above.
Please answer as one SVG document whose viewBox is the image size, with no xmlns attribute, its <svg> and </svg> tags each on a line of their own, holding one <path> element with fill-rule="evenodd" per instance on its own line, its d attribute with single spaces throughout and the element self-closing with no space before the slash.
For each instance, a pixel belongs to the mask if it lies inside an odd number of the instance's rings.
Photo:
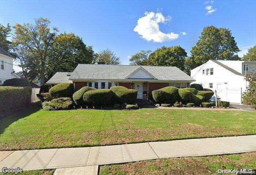
<svg viewBox="0 0 256 175">
<path fill-rule="evenodd" d="M 210 175 L 221 170 L 256 169 L 256 152 L 223 156 L 145 160 L 101 167 L 99 175 Z"/>
</svg>

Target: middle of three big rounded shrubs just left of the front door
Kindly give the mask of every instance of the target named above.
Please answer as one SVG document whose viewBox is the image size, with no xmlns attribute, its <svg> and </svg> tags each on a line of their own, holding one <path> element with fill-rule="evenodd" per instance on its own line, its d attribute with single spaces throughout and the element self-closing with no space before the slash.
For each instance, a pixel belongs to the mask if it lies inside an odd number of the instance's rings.
<svg viewBox="0 0 256 175">
<path fill-rule="evenodd" d="M 83 100 L 89 105 L 107 106 L 111 104 L 112 91 L 110 89 L 89 90 L 83 95 Z"/>
</svg>

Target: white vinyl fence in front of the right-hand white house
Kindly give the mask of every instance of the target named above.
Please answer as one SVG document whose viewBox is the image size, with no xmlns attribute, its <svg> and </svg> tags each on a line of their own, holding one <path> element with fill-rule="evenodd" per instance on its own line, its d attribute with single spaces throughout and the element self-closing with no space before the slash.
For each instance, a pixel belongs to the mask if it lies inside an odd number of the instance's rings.
<svg viewBox="0 0 256 175">
<path fill-rule="evenodd" d="M 218 100 L 229 101 L 231 103 L 242 103 L 242 88 L 216 89 Z"/>
</svg>

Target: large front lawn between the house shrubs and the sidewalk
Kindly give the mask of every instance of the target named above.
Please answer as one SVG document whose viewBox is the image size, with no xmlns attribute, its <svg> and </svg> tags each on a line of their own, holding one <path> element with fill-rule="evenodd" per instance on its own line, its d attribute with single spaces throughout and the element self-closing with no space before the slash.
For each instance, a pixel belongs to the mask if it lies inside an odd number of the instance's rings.
<svg viewBox="0 0 256 175">
<path fill-rule="evenodd" d="M 44 111 L 0 119 L 0 150 L 84 147 L 256 134 L 256 112 L 181 109 Z"/>
</svg>

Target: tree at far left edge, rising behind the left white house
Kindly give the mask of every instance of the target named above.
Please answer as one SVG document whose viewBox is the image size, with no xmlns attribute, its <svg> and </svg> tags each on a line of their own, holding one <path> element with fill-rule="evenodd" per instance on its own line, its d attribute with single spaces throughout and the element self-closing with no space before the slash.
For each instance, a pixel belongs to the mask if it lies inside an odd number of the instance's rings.
<svg viewBox="0 0 256 175">
<path fill-rule="evenodd" d="M 11 26 L 9 23 L 6 27 L 0 24 L 0 47 L 7 52 L 11 52 L 11 42 L 7 40 L 10 36 Z"/>
</svg>

